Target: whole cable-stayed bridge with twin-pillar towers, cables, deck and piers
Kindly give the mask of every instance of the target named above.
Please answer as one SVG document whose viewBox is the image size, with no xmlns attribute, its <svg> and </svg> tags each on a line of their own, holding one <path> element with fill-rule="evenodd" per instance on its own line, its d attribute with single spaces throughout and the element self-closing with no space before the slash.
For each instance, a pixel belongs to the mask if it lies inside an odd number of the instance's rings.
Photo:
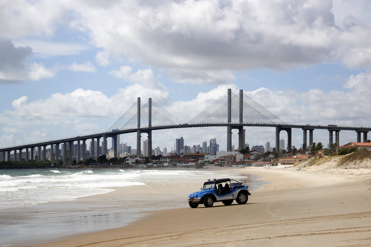
<svg viewBox="0 0 371 247">
<path fill-rule="evenodd" d="M 232 151 L 232 129 L 238 130 L 239 148 L 244 147 L 244 127 L 245 126 L 260 126 L 260 127 L 275 127 L 276 128 L 276 150 L 279 150 L 279 135 L 281 131 L 286 131 L 288 135 L 288 151 L 291 149 L 291 130 L 292 128 L 301 128 L 303 130 L 303 144 L 307 144 L 307 133 L 309 131 L 309 145 L 313 143 L 314 129 L 327 129 L 329 131 L 329 143 L 334 143 L 333 132 L 335 132 L 335 142 L 339 145 L 339 132 L 342 130 L 355 131 L 357 133 L 357 142 L 361 142 L 361 134 L 363 133 L 363 141 L 367 139 L 367 133 L 371 128 L 363 127 L 343 127 L 336 125 L 292 125 L 283 122 L 273 113 L 269 112 L 259 103 L 251 99 L 241 89 L 239 94 L 232 93 L 231 89 L 221 96 L 217 101 L 212 103 L 200 114 L 195 116 L 191 121 L 185 123 L 176 116 L 162 108 L 152 99 L 149 98 L 146 103 L 137 99 L 125 113 L 121 116 L 110 128 L 110 131 L 89 134 L 85 136 L 75 136 L 71 138 L 63 138 L 53 141 L 36 142 L 33 144 L 26 144 L 20 146 L 12 146 L 0 148 L 0 160 L 10 160 L 10 152 L 14 151 L 14 161 L 22 161 L 22 152 L 26 150 L 26 157 L 35 157 L 34 152 L 37 148 L 37 161 L 46 161 L 46 148 L 50 146 L 51 161 L 59 161 L 59 157 L 63 156 L 64 160 L 67 158 L 72 160 L 72 146 L 77 142 L 77 157 L 76 160 L 86 159 L 86 140 L 91 139 L 91 149 L 94 148 L 94 141 L 99 145 L 100 139 L 103 138 L 103 154 L 107 150 L 107 138 L 114 139 L 114 155 L 117 157 L 117 135 L 137 132 L 137 152 L 140 154 L 141 150 L 141 134 L 148 134 L 148 157 L 152 156 L 152 131 L 160 129 L 174 129 L 174 128 L 196 128 L 196 127 L 213 127 L 226 126 L 227 127 L 227 151 Z M 63 155 L 59 154 L 59 145 L 63 144 Z M 68 144 L 68 145 L 67 145 Z M 54 147 L 56 150 L 54 151 Z M 68 148 L 65 148 L 68 146 Z M 41 148 L 43 147 L 43 157 L 41 157 Z M 81 153 L 82 150 L 82 153 Z M 96 150 L 99 150 L 97 147 Z M 18 154 L 17 154 L 18 152 Z M 96 158 L 102 154 L 91 153 L 91 158 Z M 28 159 L 25 159 L 27 161 Z"/>
</svg>

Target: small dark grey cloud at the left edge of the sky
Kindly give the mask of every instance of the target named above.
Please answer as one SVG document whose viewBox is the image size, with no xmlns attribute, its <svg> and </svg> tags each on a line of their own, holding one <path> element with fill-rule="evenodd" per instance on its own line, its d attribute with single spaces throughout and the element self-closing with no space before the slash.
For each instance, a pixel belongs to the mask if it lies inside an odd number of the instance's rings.
<svg viewBox="0 0 371 247">
<path fill-rule="evenodd" d="M 25 59 L 32 53 L 32 49 L 15 47 L 9 39 L 0 38 L 0 82 L 22 80 L 27 76 Z"/>
</svg>

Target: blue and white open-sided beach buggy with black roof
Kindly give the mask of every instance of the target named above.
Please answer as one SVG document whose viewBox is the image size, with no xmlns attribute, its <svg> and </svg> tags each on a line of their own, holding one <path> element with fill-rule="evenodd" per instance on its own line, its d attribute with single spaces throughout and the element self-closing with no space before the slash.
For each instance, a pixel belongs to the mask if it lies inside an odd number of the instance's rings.
<svg viewBox="0 0 371 247">
<path fill-rule="evenodd" d="M 225 183 L 223 185 L 223 183 Z M 238 204 L 245 204 L 248 196 L 251 195 L 249 187 L 242 182 L 229 178 L 210 179 L 204 182 L 201 191 L 188 195 L 188 204 L 191 208 L 197 208 L 204 204 L 205 207 L 213 207 L 214 202 L 223 202 L 224 205 L 231 205 L 233 200 Z"/>
</svg>

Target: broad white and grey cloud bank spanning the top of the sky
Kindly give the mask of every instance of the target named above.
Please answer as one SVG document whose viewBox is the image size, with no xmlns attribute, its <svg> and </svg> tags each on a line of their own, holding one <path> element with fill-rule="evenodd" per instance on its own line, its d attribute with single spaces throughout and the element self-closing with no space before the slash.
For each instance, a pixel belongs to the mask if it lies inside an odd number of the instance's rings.
<svg viewBox="0 0 371 247">
<path fill-rule="evenodd" d="M 4 3 L 0 11 L 0 23 L 6 23 L 0 24 L 2 35 L 27 39 L 38 54 L 85 49 L 29 38 L 50 37 L 68 27 L 99 48 L 100 65 L 112 59 L 144 63 L 167 70 L 180 83 L 230 83 L 231 71 L 261 67 L 371 66 L 368 1 L 18 0 Z"/>
</svg>

